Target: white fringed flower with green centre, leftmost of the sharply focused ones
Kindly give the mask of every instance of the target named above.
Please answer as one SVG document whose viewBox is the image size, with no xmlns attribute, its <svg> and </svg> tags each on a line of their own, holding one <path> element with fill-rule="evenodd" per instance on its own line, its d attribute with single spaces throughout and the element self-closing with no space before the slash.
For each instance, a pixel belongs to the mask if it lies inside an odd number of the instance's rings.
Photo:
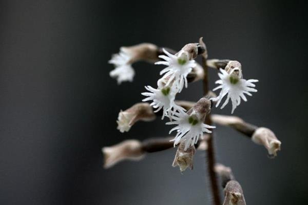
<svg viewBox="0 0 308 205">
<path fill-rule="evenodd" d="M 154 112 L 158 112 L 163 109 L 162 119 L 164 116 L 171 117 L 171 115 L 176 111 L 185 110 L 175 103 L 176 92 L 174 88 L 165 87 L 155 89 L 151 86 L 145 86 L 145 89 L 150 92 L 141 93 L 142 95 L 147 96 L 142 101 L 153 100 L 150 106 L 156 109 Z"/>
</svg>

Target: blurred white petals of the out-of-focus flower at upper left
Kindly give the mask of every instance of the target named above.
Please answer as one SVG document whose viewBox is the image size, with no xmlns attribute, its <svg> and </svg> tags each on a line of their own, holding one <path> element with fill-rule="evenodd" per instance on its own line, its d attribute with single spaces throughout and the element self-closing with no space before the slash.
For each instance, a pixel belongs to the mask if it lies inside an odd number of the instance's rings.
<svg viewBox="0 0 308 205">
<path fill-rule="evenodd" d="M 118 80 L 118 84 L 123 81 L 132 81 L 135 74 L 131 67 L 130 55 L 127 52 L 120 51 L 120 53 L 113 54 L 112 58 L 108 61 L 109 64 L 113 64 L 115 69 L 110 71 L 109 75 Z"/>
</svg>

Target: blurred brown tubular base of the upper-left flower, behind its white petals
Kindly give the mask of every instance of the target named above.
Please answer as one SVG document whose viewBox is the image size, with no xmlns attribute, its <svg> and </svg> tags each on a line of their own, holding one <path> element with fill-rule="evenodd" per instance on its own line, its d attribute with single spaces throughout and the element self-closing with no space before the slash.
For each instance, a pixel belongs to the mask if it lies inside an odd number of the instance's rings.
<svg viewBox="0 0 308 205">
<path fill-rule="evenodd" d="M 158 60 L 158 47 L 154 44 L 142 43 L 129 47 L 121 47 L 120 50 L 129 54 L 130 64 L 139 60 L 145 60 L 150 63 L 155 63 Z"/>
</svg>

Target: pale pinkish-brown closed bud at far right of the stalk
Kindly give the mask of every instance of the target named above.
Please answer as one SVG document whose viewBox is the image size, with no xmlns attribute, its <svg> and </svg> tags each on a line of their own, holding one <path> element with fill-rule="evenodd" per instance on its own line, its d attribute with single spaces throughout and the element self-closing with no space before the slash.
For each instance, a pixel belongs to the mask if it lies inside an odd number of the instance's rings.
<svg viewBox="0 0 308 205">
<path fill-rule="evenodd" d="M 263 145 L 267 149 L 268 154 L 273 157 L 277 156 L 277 152 L 280 150 L 281 141 L 268 128 L 258 128 L 254 132 L 252 140 L 258 145 Z"/>
</svg>

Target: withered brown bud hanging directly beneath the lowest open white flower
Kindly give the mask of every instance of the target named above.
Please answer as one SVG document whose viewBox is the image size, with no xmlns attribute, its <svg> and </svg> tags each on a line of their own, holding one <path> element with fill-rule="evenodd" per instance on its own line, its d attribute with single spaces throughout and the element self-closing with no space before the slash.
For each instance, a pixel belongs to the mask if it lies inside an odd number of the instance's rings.
<svg viewBox="0 0 308 205">
<path fill-rule="evenodd" d="M 178 147 L 172 167 L 179 166 L 180 171 L 184 172 L 188 167 L 192 170 L 192 163 L 194 162 L 194 154 L 196 152 L 195 146 L 190 146 L 185 151 L 185 143 L 181 142 Z"/>
</svg>

